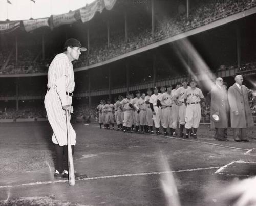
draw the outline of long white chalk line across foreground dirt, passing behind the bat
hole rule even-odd
[[[86,181],[86,180],[95,180],[95,179],[108,179],[108,178],[117,178],[117,177],[146,176],[146,175],[180,173],[180,172],[191,172],[191,171],[199,171],[199,170],[218,169],[220,167],[221,166],[217,166],[217,167],[202,167],[202,168],[184,169],[184,170],[176,170],[176,171],[144,172],[144,173],[134,173],[134,174],[118,174],[118,175],[108,175],[108,176],[99,176],[99,177],[88,177],[88,178],[83,178],[83,179],[77,179],[76,181]],[[4,186],[0,186],[0,188],[12,188],[12,187],[23,187],[23,186],[33,186],[33,185],[47,185],[47,184],[55,184],[55,183],[61,183],[61,182],[68,182],[68,180],[37,181],[37,182],[30,182],[30,183],[20,184],[20,185],[4,185]]]

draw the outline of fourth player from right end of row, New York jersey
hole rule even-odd
[[[167,86],[167,92],[161,94],[160,98],[160,103],[162,105],[162,113],[163,113],[163,131],[164,131],[164,136],[166,136],[167,133],[167,128],[172,126],[172,103],[173,103],[173,97],[171,94],[172,91],[172,85]],[[170,131],[172,134],[172,129]]]

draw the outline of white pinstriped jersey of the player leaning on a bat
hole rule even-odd
[[[72,93],[75,89],[73,64],[64,53],[57,54],[50,64],[47,87],[56,88],[56,81],[62,75],[69,77],[66,78],[66,91]]]

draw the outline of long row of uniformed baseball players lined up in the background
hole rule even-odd
[[[176,136],[179,123],[180,137],[189,138],[190,135],[197,138],[197,128],[201,119],[200,101],[204,96],[201,89],[196,86],[194,79],[190,81],[190,86],[184,79],[176,83],[175,89],[172,89],[171,85],[162,86],[161,93],[155,87],[153,90],[147,89],[147,95],[136,91],[135,98],[130,93],[126,94],[125,99],[119,96],[114,105],[110,100],[107,100],[106,104],[101,101],[97,106],[100,128],[104,124],[105,129],[110,129],[109,125],[112,124],[114,129],[115,115],[118,130],[124,132],[131,132],[132,129],[135,132],[154,133],[154,122],[156,134],[160,134],[159,128],[162,125],[164,135],[168,135],[169,128],[170,135]]]

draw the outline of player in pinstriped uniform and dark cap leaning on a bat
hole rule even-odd
[[[72,61],[79,59],[80,51],[86,51],[86,48],[81,47],[81,43],[77,39],[68,39],[64,44],[64,52],[55,56],[48,71],[45,108],[53,130],[52,141],[56,151],[55,178],[68,176],[68,140],[65,115],[73,113],[71,105],[75,81]],[[71,147],[74,154],[76,133],[70,121],[68,127],[70,128]]]

